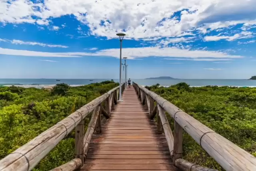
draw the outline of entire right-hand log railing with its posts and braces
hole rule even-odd
[[[183,171],[214,171],[182,159],[182,131],[186,131],[226,171],[256,171],[256,157],[206,127],[166,99],[133,82],[151,119],[157,114],[157,130],[164,130],[173,164]],[[156,105],[154,105],[156,101]],[[174,118],[174,135],[165,112]]]

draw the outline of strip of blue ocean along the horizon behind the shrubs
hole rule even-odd
[[[59,83],[66,83],[70,86],[86,85],[96,82],[102,82],[111,79],[0,79],[0,85],[22,86],[22,87],[52,87]],[[113,79],[114,82],[119,82],[118,79]],[[177,79],[177,80],[145,80],[145,79],[131,79],[139,85],[154,85],[160,84],[162,86],[170,86],[180,82],[185,82],[193,87],[200,87],[206,85],[218,86],[235,86],[235,87],[256,87],[256,80],[196,80],[196,79]]]

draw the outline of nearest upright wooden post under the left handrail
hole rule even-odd
[[[81,159],[84,165],[84,119],[75,128],[75,158]]]

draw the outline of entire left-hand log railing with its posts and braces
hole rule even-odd
[[[122,84],[122,90],[124,88],[125,85]],[[114,109],[114,105],[117,104],[118,93],[120,93],[118,90],[119,86],[82,106],[56,125],[4,157],[0,161],[0,171],[32,170],[74,128],[75,159],[52,169],[52,171],[74,171],[82,167],[92,134],[101,132],[101,114],[107,118],[110,117],[111,109]],[[84,134],[84,119],[92,111],[92,118]]]

